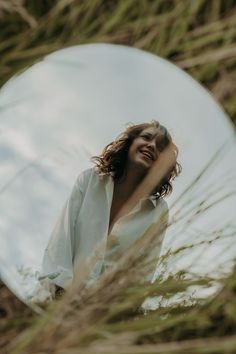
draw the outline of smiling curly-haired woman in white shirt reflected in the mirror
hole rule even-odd
[[[132,125],[94,157],[96,166],[79,175],[52,232],[43,273],[57,288],[67,288],[76,274],[87,281],[99,277],[151,224],[156,257],[168,221],[163,197],[180,173],[177,148],[159,122]],[[92,265],[88,261],[96,258]]]

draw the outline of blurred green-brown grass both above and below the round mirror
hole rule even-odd
[[[50,52],[95,42],[171,60],[236,123],[235,0],[1,0],[0,84]],[[74,289],[40,317],[2,285],[1,353],[236,353],[236,268],[219,281],[217,295],[163,306],[163,297],[213,280],[181,273],[137,286],[135,274],[130,265],[95,289]],[[144,314],[148,295],[162,302]]]

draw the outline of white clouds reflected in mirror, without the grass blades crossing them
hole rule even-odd
[[[26,266],[40,263],[53,220],[76,175],[88,166],[88,155],[99,154],[127,122],[158,119],[173,134],[183,173],[170,204],[232,135],[223,111],[187,74],[154,55],[122,46],[84,45],[50,55],[3,88],[2,106],[16,100],[19,104],[0,111],[0,144],[5,149],[1,179],[7,181],[14,171],[38,160],[0,195],[4,257],[11,266],[12,260]],[[223,182],[228,169],[235,173],[235,142],[232,145],[198,184],[194,200],[207,183]],[[181,203],[188,203],[186,197]],[[205,220],[196,219],[192,227],[211,232],[232,217],[233,203],[235,198],[205,214]],[[189,235],[194,237],[192,231],[175,241],[170,230],[164,246],[186,242]],[[212,248],[210,256],[214,252],[218,248]]]

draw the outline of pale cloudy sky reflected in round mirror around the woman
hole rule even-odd
[[[24,301],[77,176],[126,124],[158,120],[183,172],[166,198],[170,226],[156,277],[230,269],[236,246],[235,140],[212,97],[169,62],[134,48],[82,45],[47,56],[0,92],[1,277]],[[214,240],[214,242],[212,242]],[[183,247],[197,246],[191,250]]]

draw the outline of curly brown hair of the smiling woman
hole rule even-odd
[[[114,141],[105,146],[100,156],[93,156],[92,161],[96,164],[96,171],[99,174],[108,174],[113,177],[114,181],[119,180],[125,173],[127,156],[129,148],[144,129],[149,127],[159,128],[163,139],[161,139],[158,149],[163,151],[165,147],[172,141],[168,130],[158,121],[154,120],[150,123],[142,123],[130,125],[123,133],[121,133]],[[165,197],[172,192],[172,181],[182,170],[181,165],[176,162],[165,176],[160,185],[156,186],[152,192],[152,196],[156,199]]]

